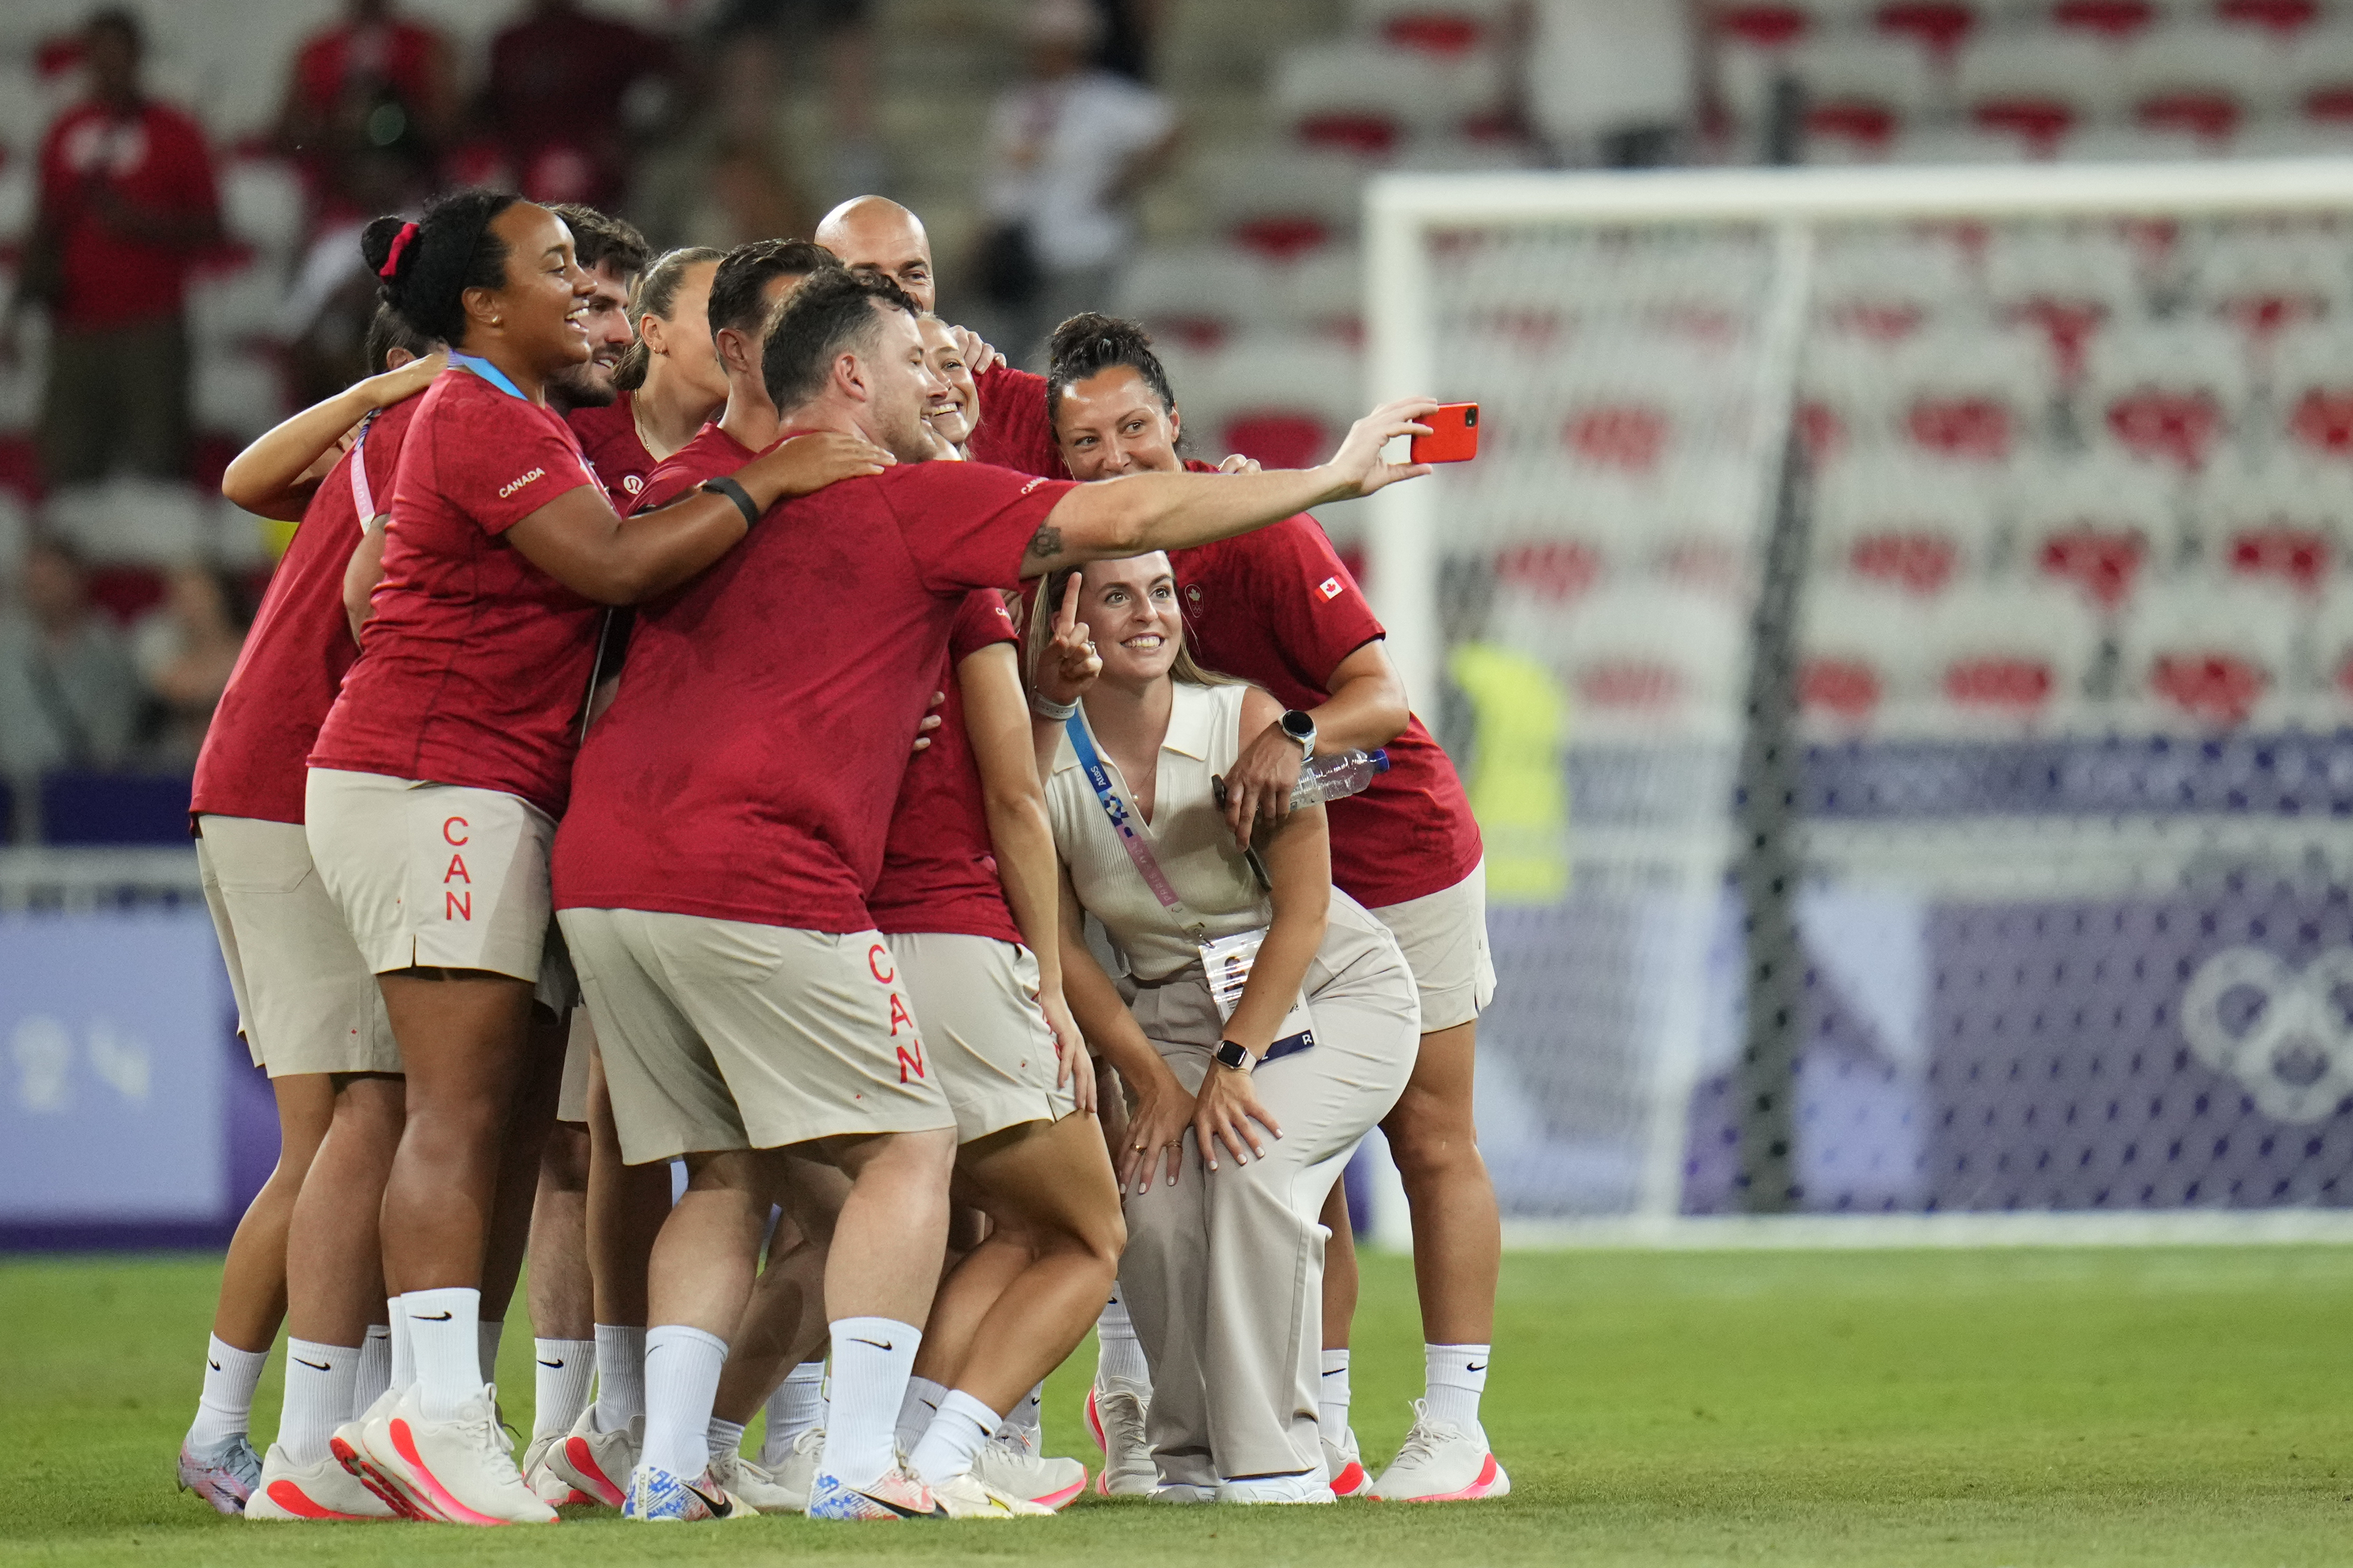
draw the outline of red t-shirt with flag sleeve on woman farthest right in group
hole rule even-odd
[[[1322,527],[1304,513],[1169,551],[1169,563],[1193,657],[1264,685],[1287,709],[1322,704],[1339,662],[1386,636]],[[1388,772],[1327,810],[1332,885],[1367,909],[1452,888],[1482,852],[1454,763],[1419,718],[1388,742]]]

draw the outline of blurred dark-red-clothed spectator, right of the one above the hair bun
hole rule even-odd
[[[591,16],[579,0],[534,0],[489,45],[482,127],[534,202],[612,207],[628,184],[631,132],[671,115],[675,64],[664,38]]]

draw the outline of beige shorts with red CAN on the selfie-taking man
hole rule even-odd
[[[560,918],[631,1165],[955,1125],[880,932]]]

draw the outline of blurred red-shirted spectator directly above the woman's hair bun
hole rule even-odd
[[[456,127],[456,68],[442,35],[395,16],[391,0],[346,9],[294,54],[278,115],[278,141],[301,162],[325,217],[348,217],[355,162],[384,151],[431,160]]]

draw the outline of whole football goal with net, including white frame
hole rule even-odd
[[[2353,1203],[2353,162],[1391,177],[1506,1217]]]

